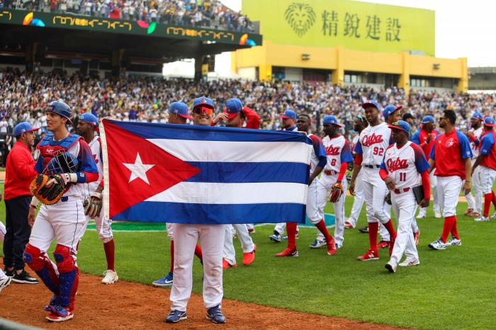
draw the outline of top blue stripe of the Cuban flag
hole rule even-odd
[[[207,140],[237,142],[305,142],[312,141],[298,132],[282,130],[252,130],[249,128],[213,127],[200,125],[177,125],[135,123],[107,120],[144,139]]]

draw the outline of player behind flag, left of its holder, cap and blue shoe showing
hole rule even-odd
[[[173,102],[169,107],[169,124],[186,125],[187,120],[193,120],[191,115],[188,115],[188,106],[183,102]],[[167,236],[171,240],[171,267],[169,273],[159,280],[154,280],[152,285],[155,287],[166,287],[172,285],[174,281],[174,224],[167,223]],[[196,243],[195,255],[202,261],[201,247]]]

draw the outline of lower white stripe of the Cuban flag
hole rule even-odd
[[[306,204],[308,186],[301,183],[208,183],[181,182],[147,202],[198,204]]]

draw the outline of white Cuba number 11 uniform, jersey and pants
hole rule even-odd
[[[398,222],[398,232],[390,262],[398,266],[403,253],[408,261],[416,261],[419,258],[411,229],[417,209],[412,188],[419,185],[420,173],[429,169],[429,163],[422,149],[409,141],[401,148],[398,148],[397,144],[391,145],[385,151],[381,169],[395,182],[395,189],[391,191],[391,202]],[[430,190],[429,185],[427,189]]]

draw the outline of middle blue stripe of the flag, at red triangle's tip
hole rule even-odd
[[[201,172],[188,182],[248,183],[290,182],[308,183],[308,165],[301,163],[232,163],[188,161]]]

